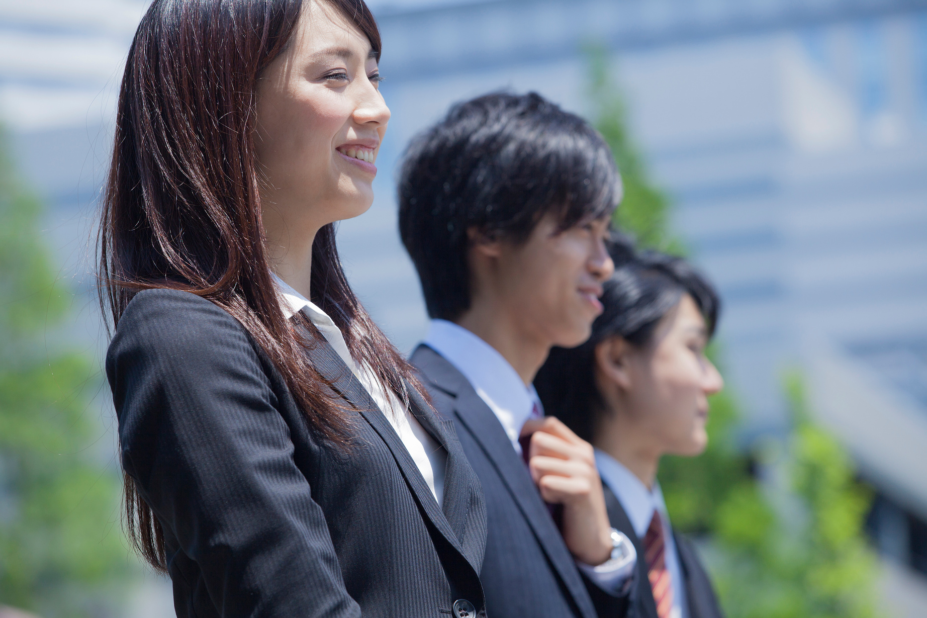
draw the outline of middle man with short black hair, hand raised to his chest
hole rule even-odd
[[[620,196],[602,137],[534,93],[458,104],[406,154],[400,234],[432,318],[412,361],[483,485],[490,616],[627,610],[636,556],[592,447],[531,385],[602,313]]]

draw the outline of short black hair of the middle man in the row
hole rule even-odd
[[[547,213],[565,230],[620,199],[611,150],[577,115],[535,93],[454,105],[413,139],[400,174],[400,236],[428,315],[454,320],[470,308],[468,228],[520,243]]]

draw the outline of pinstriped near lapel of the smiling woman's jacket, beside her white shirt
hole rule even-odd
[[[429,489],[427,483],[425,483],[425,478],[422,476],[421,471],[418,470],[418,466],[415,465],[412,456],[409,455],[409,450],[402,444],[396,430],[389,424],[389,421],[383,415],[383,412],[380,411],[379,407],[376,406],[370,394],[363,388],[361,382],[354,377],[354,374],[351,373],[348,366],[344,364],[344,361],[336,354],[331,345],[328,344],[328,341],[318,341],[314,348],[306,350],[306,354],[309,356],[313,367],[322,374],[325,380],[329,381],[332,388],[337,393],[344,397],[351,406],[354,406],[364,420],[370,424],[376,434],[380,436],[380,439],[387,444],[387,448],[396,460],[396,464],[399,466],[403,478],[412,490],[419,508],[438,529],[438,532],[451,543],[451,546],[457,549],[462,555],[466,556],[463,547],[461,547],[458,535],[451,529],[451,524],[438,507],[438,502],[435,501],[434,494],[431,493],[431,489]],[[427,416],[430,415],[419,411],[416,418],[422,419]],[[440,432],[436,435],[434,424],[429,424],[431,427],[426,428],[426,431],[429,431],[440,444],[447,444],[446,436]],[[448,457],[448,467],[451,468],[451,457]],[[447,479],[445,479],[445,483],[447,483]],[[445,486],[445,492],[446,491],[447,487]],[[467,557],[467,560],[469,561],[470,558]],[[476,573],[479,573],[479,566],[472,566],[474,566]]]

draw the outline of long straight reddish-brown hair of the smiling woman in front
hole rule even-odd
[[[380,34],[363,0],[325,0]],[[260,72],[295,32],[301,0],[155,0],[135,32],[122,77],[103,197],[98,269],[104,313],[119,322],[140,290],[185,290],[233,315],[286,380],[317,435],[349,444],[343,408],[326,394],[296,325],[281,310],[264,251],[254,132]],[[350,289],[335,227],[312,245],[311,297],[351,355],[408,402],[407,361]],[[317,331],[315,331],[317,332]],[[166,572],[158,519],[124,474],[133,546]]]

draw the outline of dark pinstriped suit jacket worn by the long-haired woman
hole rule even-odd
[[[484,606],[486,513],[453,427],[414,389],[448,453],[443,512],[387,418],[326,341],[311,363],[349,404],[353,444],[309,430],[231,315],[146,290],[107,354],[121,458],[164,529],[181,617],[451,615]]]

